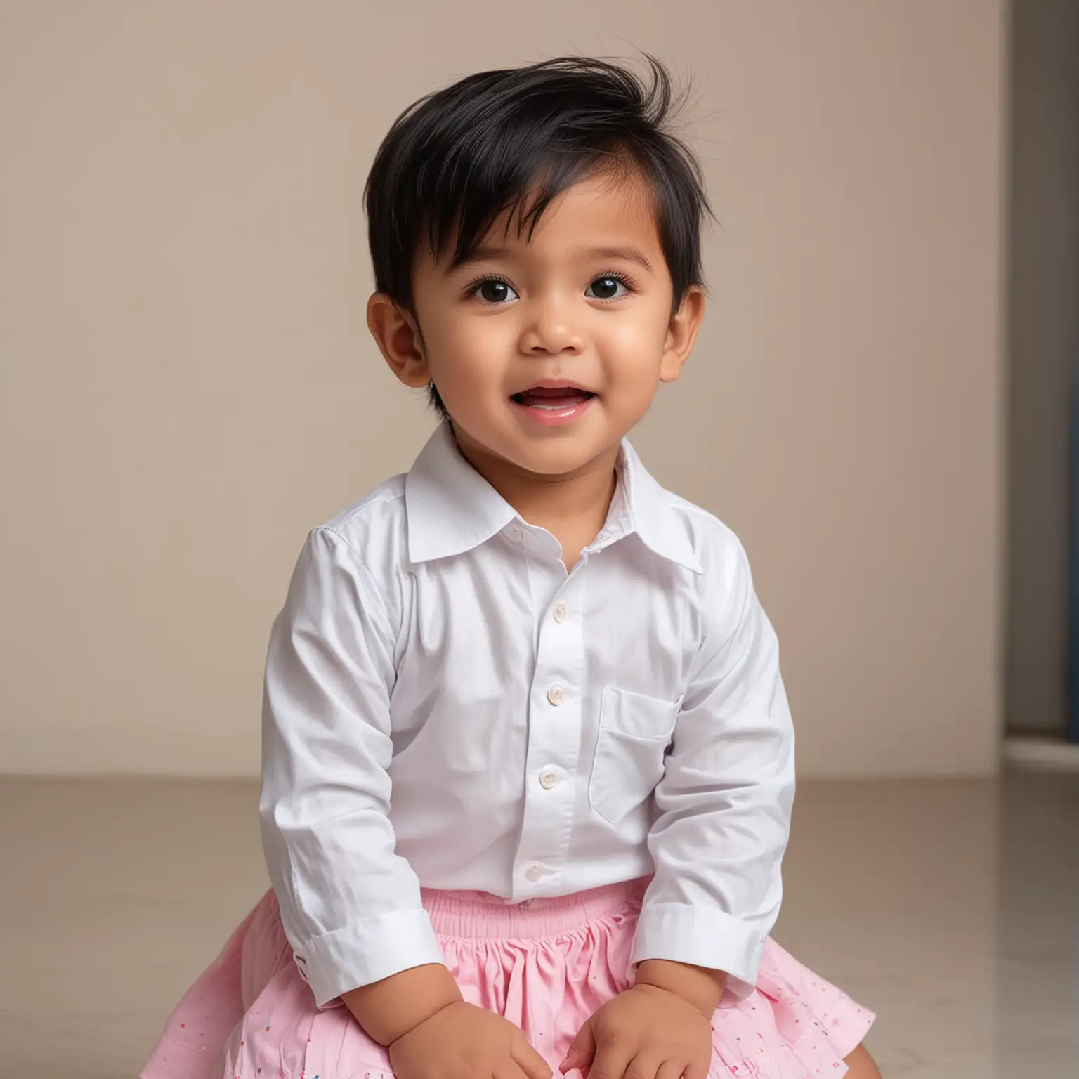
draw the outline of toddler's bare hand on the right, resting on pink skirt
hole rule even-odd
[[[705,1015],[668,989],[639,983],[585,1023],[559,1070],[587,1068],[588,1079],[706,1079],[711,1063]]]

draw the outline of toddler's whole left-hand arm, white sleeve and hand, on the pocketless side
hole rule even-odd
[[[267,660],[260,815],[296,962],[401,1079],[549,1079],[513,1023],[466,1003],[395,850],[390,695],[395,619],[337,533],[308,538]]]

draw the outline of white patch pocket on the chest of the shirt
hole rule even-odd
[[[588,802],[609,823],[646,802],[663,779],[680,707],[614,686],[603,691]]]

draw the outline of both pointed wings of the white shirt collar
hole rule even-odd
[[[647,473],[627,439],[618,453],[618,476],[604,527],[610,540],[636,532],[656,555],[701,573],[672,496]],[[412,562],[462,555],[519,520],[517,510],[464,459],[445,421],[406,477],[405,508]]]

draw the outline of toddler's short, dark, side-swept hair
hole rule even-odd
[[[664,65],[651,79],[591,57],[483,71],[422,97],[394,122],[364,189],[378,291],[414,314],[421,244],[465,261],[507,210],[531,236],[549,204],[601,170],[636,172],[652,190],[674,310],[704,284],[710,215],[700,166],[670,131],[684,95]],[[432,407],[448,415],[434,383]]]

